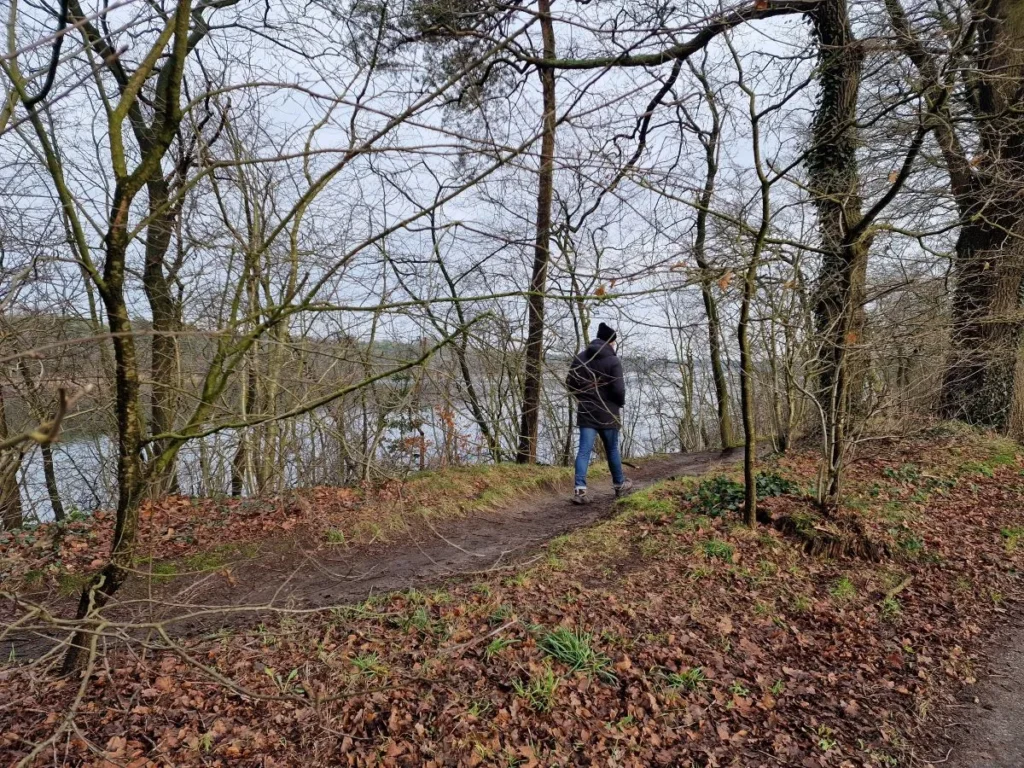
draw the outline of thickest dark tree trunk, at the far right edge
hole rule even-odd
[[[932,108],[961,217],[953,261],[949,355],[939,413],[1024,437],[1020,294],[1024,280],[1024,6],[972,0],[959,62],[944,75],[910,27],[899,0],[886,0],[896,39],[916,68]],[[965,66],[966,65],[966,66]],[[959,78],[959,81],[956,78]],[[980,152],[969,158],[947,105],[963,96]]]

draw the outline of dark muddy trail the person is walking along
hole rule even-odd
[[[629,476],[639,489],[741,458],[742,450],[663,456],[644,460]],[[590,489],[593,500],[586,506],[569,502],[569,482],[493,511],[434,524],[424,519],[415,532],[388,543],[340,548],[301,535],[266,542],[253,557],[215,572],[166,583],[134,579],[103,618],[116,634],[138,636],[141,631],[132,627],[160,625],[170,636],[195,637],[251,625],[271,612],[351,605],[381,593],[513,569],[539,558],[538,550],[552,539],[613,514],[610,481],[592,482]],[[69,598],[49,608],[54,615],[71,617],[75,602]],[[65,639],[17,633],[8,635],[3,651],[28,662]]]

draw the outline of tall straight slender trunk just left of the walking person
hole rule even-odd
[[[555,57],[555,31],[551,19],[551,0],[539,0],[538,13],[544,39],[544,57]],[[526,359],[523,368],[522,418],[519,426],[519,464],[537,462],[537,439],[541,415],[542,377],[544,375],[544,292],[548,287],[548,261],[551,256],[551,202],[555,176],[555,71],[540,67],[544,104],[541,136],[541,167],[537,191],[537,240],[534,246],[534,273],[529,282]]]

